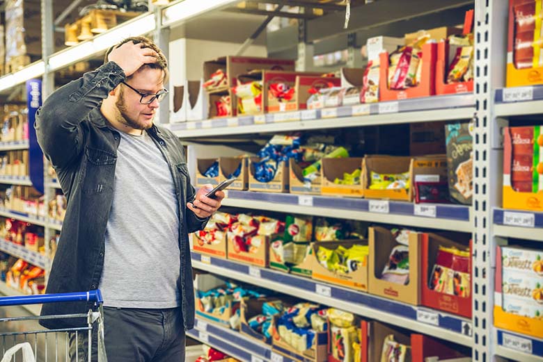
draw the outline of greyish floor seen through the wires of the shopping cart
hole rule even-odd
[[[3,318],[31,317],[31,313],[22,306],[6,306],[0,308],[0,320]],[[43,331],[44,328],[37,320],[0,322],[0,356],[3,356],[6,349],[17,343],[29,342],[36,355],[36,362],[66,361],[66,334],[24,334],[17,336],[3,336],[10,333],[23,333],[29,331]],[[58,345],[58,350],[56,349]],[[37,346],[37,347],[36,347]],[[22,354],[16,355],[15,361],[22,361]]]

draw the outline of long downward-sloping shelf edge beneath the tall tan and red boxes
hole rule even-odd
[[[430,336],[440,336],[461,345],[471,346],[471,320],[402,302],[349,290],[267,268],[236,263],[226,259],[191,253],[196,269],[281,291],[296,297],[350,311],[382,322],[401,325]],[[426,322],[421,322],[424,320]]]

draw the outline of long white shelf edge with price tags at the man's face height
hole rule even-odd
[[[301,129],[470,120],[475,111],[473,104],[472,94],[450,94],[377,104],[358,104],[338,108],[268,113],[260,116],[246,115],[171,123],[169,127],[180,138],[196,138]]]

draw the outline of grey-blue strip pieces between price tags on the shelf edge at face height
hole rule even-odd
[[[393,102],[398,103],[398,112],[389,112],[388,110],[382,110],[382,105],[391,104]],[[372,104],[366,104],[366,106],[369,107],[368,113],[366,115],[379,115],[379,114],[390,114],[393,115],[395,113],[404,113],[404,112],[416,112],[416,111],[424,111],[424,110],[446,110],[450,108],[468,108],[475,106],[475,98],[473,97],[473,94],[464,93],[464,94],[446,94],[446,95],[439,95],[439,96],[432,96],[432,97],[422,97],[422,98],[416,98],[416,99],[402,99],[401,101],[393,101],[393,102],[380,102],[380,103],[372,103]],[[381,106],[379,106],[381,105]],[[353,114],[353,107],[356,106],[363,106],[363,105],[354,105],[354,106],[340,106],[337,108],[330,108],[330,109],[336,109],[337,110],[337,117],[354,117],[356,115]],[[329,109],[329,108],[325,108]],[[304,121],[310,121],[310,120],[319,120],[322,118],[322,114],[320,110],[300,110],[297,111],[300,113],[297,120],[304,120]],[[292,112],[286,112],[286,113],[292,113]],[[294,112],[295,113],[295,112]],[[308,115],[311,116],[308,116]],[[276,120],[276,115],[281,116],[281,113],[267,113],[265,115],[265,123],[278,123],[278,122],[284,122],[284,121],[278,121]],[[230,117],[230,118],[219,118],[219,119],[212,119],[212,120],[203,120],[203,121],[193,121],[193,122],[180,122],[180,123],[172,123],[171,124],[171,131],[183,131],[185,129],[189,129],[189,124],[191,124],[191,128],[194,129],[203,129],[203,122],[208,121],[208,125],[210,128],[223,128],[228,127],[228,120],[234,120],[234,123],[237,123],[237,126],[251,126],[253,124],[258,124],[255,122],[256,117],[255,116],[240,116],[240,117]],[[209,122],[210,121],[210,122]]]

